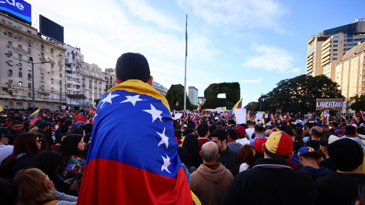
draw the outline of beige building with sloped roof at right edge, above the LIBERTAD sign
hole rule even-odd
[[[335,80],[346,100],[365,94],[365,41],[348,50],[337,63]]]

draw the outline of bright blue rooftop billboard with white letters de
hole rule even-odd
[[[31,5],[23,0],[0,0],[0,12],[31,25]]]

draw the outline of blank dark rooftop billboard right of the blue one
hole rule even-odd
[[[39,32],[55,41],[64,44],[64,27],[39,15]]]

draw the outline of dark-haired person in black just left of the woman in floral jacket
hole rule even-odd
[[[59,152],[48,150],[39,152],[34,158],[33,167],[42,170],[43,173],[48,175],[58,192],[77,197],[77,181],[70,187],[70,181],[72,181],[72,179],[62,181],[57,177],[57,174],[62,172],[63,168],[63,158]]]

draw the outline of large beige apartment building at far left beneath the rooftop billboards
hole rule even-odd
[[[65,51],[42,38],[36,28],[0,13],[0,105],[3,109],[32,109],[32,78],[35,108],[56,110],[66,102]],[[34,76],[32,76],[32,63]],[[45,63],[41,63],[45,62]],[[61,95],[60,95],[61,91]]]

